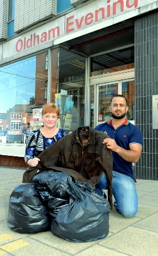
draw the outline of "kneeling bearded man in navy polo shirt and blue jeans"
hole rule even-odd
[[[125,119],[127,111],[127,99],[120,94],[113,96],[110,103],[112,119],[95,129],[110,136],[104,139],[103,144],[112,150],[113,155],[114,206],[121,215],[132,218],[137,213],[136,180],[132,163],[136,163],[140,158],[143,135],[138,127]],[[106,175],[102,175],[98,186],[103,190],[107,189]]]

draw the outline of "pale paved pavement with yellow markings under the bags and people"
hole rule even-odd
[[[25,168],[0,166],[0,256],[157,256],[158,181],[137,180],[139,211],[126,219],[110,212],[110,231],[96,242],[75,243],[55,237],[50,231],[20,234],[7,225],[9,198],[22,184]]]

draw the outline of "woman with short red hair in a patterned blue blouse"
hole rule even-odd
[[[59,107],[47,103],[42,108],[43,127],[32,131],[27,139],[25,162],[31,167],[37,166],[40,159],[37,157],[44,149],[55,141],[66,136],[66,131],[55,127],[58,123]]]

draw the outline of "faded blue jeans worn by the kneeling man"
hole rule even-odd
[[[102,175],[97,185],[102,190],[107,190],[108,185],[105,174]],[[137,213],[138,201],[135,180],[127,175],[112,171],[112,191],[116,210],[125,218],[132,218]],[[101,195],[102,191],[100,190],[98,194]]]

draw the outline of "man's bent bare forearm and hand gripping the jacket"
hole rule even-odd
[[[129,150],[119,147],[114,139],[104,139],[103,144],[106,144],[107,148],[118,153],[125,161],[136,163],[141,154],[142,147],[139,144],[130,144]]]

